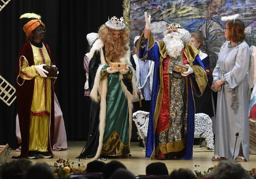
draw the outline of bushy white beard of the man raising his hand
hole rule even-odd
[[[183,41],[180,39],[180,34],[172,32],[164,36],[163,41],[166,46],[167,54],[172,57],[179,56],[184,48]]]

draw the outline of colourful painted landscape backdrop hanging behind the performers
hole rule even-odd
[[[144,12],[151,15],[151,31],[156,40],[163,37],[166,23],[180,22],[188,31],[201,31],[204,36],[205,51],[213,70],[221,45],[225,41],[225,22],[220,18],[239,14],[246,25],[246,42],[256,45],[256,0],[124,0],[124,16],[129,14],[131,46],[135,36],[145,27]]]

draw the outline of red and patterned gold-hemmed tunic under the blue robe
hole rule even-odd
[[[175,59],[167,56],[163,60],[164,97],[157,125],[158,146],[162,153],[178,152],[185,148],[188,127],[187,80],[180,73],[172,72],[176,62],[184,63],[181,56]]]

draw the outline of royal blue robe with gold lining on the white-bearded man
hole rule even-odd
[[[143,33],[141,34],[141,37]],[[141,42],[141,37],[139,39],[139,44]],[[181,159],[192,159],[193,157],[193,140],[194,140],[194,100],[193,100],[193,89],[197,96],[201,96],[204,92],[204,88],[207,85],[207,75],[205,72],[204,64],[201,61],[198,53],[199,51],[191,46],[190,44],[184,44],[185,51],[184,55],[187,57],[190,66],[193,68],[194,73],[188,75],[188,129],[187,129],[187,138],[185,146],[185,155]],[[137,47],[137,54],[140,60],[150,59],[155,61],[154,66],[154,77],[153,77],[153,86],[152,86],[152,98],[151,98],[151,107],[149,115],[149,124],[148,132],[146,139],[146,157],[153,159],[157,157],[156,148],[157,148],[157,122],[159,118],[159,112],[162,104],[162,91],[163,86],[162,80],[162,61],[167,56],[167,51],[163,41],[154,41],[152,34],[150,33],[148,40],[146,42],[145,48],[141,46]],[[193,64],[193,66],[192,66]]]

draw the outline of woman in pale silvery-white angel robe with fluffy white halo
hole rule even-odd
[[[248,77],[250,48],[243,41],[244,22],[236,15],[227,21],[219,59],[213,71],[212,89],[218,92],[213,161],[249,161]]]

